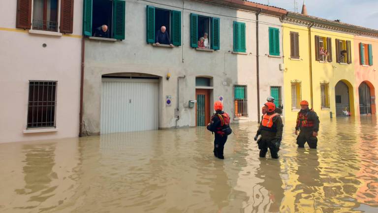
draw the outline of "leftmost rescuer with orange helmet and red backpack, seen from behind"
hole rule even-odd
[[[220,101],[214,103],[215,113],[211,116],[211,123],[207,125],[210,132],[215,133],[214,155],[219,159],[224,159],[223,148],[227,141],[227,136],[232,133],[229,126],[230,116],[223,111],[223,104]]]

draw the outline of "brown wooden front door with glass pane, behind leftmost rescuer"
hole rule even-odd
[[[195,124],[196,126],[206,126],[210,123],[210,90],[196,89],[195,98]]]

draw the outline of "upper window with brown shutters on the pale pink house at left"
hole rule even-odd
[[[16,27],[71,34],[73,0],[17,0]]]

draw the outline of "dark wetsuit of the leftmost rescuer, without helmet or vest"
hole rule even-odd
[[[227,141],[227,134],[222,134],[220,128],[222,128],[221,119],[218,114],[222,115],[223,111],[217,111],[212,117],[211,117],[211,123],[206,127],[209,131],[213,132],[215,134],[214,139],[214,155],[220,159],[224,159],[223,156],[223,149],[224,144]]]

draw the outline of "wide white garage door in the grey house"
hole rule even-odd
[[[158,129],[158,79],[102,78],[101,134]]]

